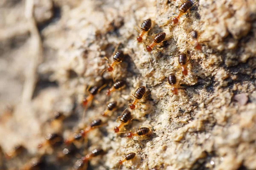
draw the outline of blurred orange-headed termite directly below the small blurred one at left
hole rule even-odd
[[[57,133],[48,133],[46,136],[46,141],[44,143],[38,144],[38,148],[45,146],[60,146],[63,143],[63,138]]]

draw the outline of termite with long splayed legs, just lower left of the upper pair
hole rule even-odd
[[[119,44],[120,44],[120,43],[119,43]],[[114,51],[113,54],[112,54],[112,56],[113,56],[113,62],[110,62],[107,57],[104,57],[104,58],[108,61],[109,65],[108,65],[108,67],[107,67],[105,70],[103,70],[102,73],[101,73],[101,74],[103,74],[106,70],[108,70],[108,72],[111,72],[111,75],[112,75],[112,78],[113,78],[113,82],[115,82],[115,79],[114,79],[113,73],[112,73],[112,71],[114,70],[114,66],[115,66],[116,64],[119,64],[120,62],[122,62],[122,60],[125,58],[125,55],[123,54],[122,51],[117,51],[117,48],[118,48],[119,44],[116,46],[115,51]],[[116,52],[116,51],[117,51],[117,52]]]

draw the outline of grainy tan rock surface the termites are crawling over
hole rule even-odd
[[[163,26],[178,13],[180,0],[2,0],[0,169],[20,169],[41,155],[45,169],[71,169],[81,155],[101,147],[105,155],[93,158],[89,168],[118,169],[117,160],[135,152],[120,169],[255,170],[256,3],[192,2],[177,26]],[[168,39],[154,53],[135,41],[138,25],[148,18],[154,21],[149,35],[166,32]],[[108,66],[104,57],[112,62],[119,43],[125,59],[113,77],[125,80],[126,87],[107,97],[112,76],[102,74]],[[187,76],[178,64],[181,53],[190,58]],[[171,73],[180,84],[178,95],[166,83]],[[85,89],[104,84],[83,122]],[[113,128],[141,85],[149,95],[132,112],[126,131],[142,125],[152,134],[130,141]],[[110,101],[117,101],[118,109],[104,118],[100,113]],[[63,123],[48,121],[55,111],[64,113]],[[66,139],[99,118],[106,124],[77,143],[72,157],[56,161],[64,146],[38,150],[47,133]],[[19,144],[25,149],[8,158]]]

